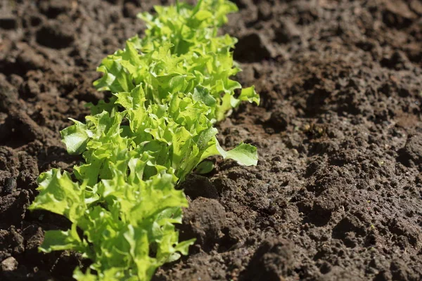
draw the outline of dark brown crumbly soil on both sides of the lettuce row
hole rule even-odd
[[[83,120],[96,66],[168,1],[0,4],[0,279],[72,280],[80,254],[37,251],[68,221],[27,211],[39,172],[69,169],[60,129]],[[182,187],[188,257],[154,280],[422,280],[422,3],[237,0],[224,32],[260,107],[219,141],[257,166],[215,159]]]

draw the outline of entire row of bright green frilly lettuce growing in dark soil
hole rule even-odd
[[[179,242],[174,229],[188,206],[174,186],[211,155],[257,164],[255,147],[225,151],[214,127],[241,101],[260,100],[253,87],[235,93],[241,85],[229,77],[240,70],[231,53],[236,39],[217,34],[236,6],[200,0],[155,11],[139,15],[148,27],[143,38],[129,39],[98,67],[103,76],[94,86],[112,98],[61,131],[68,152],[84,162],[72,173],[41,174],[30,206],[72,223],[47,231],[40,249],[91,259],[86,272],[75,269],[77,280],[150,280],[193,244]]]

